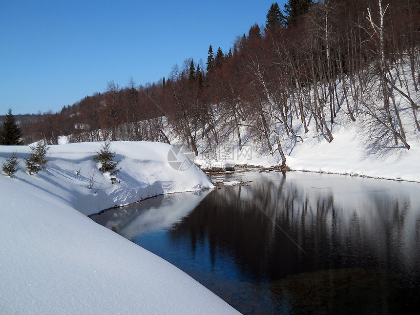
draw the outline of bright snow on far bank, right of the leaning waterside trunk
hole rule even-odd
[[[420,181],[420,138],[414,128],[407,132],[409,150],[393,148],[383,154],[369,154],[357,123],[335,127],[331,143],[311,132],[302,135],[304,142],[285,152],[287,165],[294,170]]]

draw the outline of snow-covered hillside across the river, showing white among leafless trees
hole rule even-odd
[[[408,64],[408,63],[407,63]],[[394,65],[397,68],[397,65]],[[406,65],[404,67],[405,73],[411,73]],[[396,70],[391,70],[392,79],[399,82],[399,76]],[[377,77],[372,76],[372,82],[365,87],[364,94],[358,96],[358,104],[371,104],[377,108],[381,107],[381,100],[375,98],[378,94],[378,86],[375,80]],[[270,141],[273,147],[273,154],[267,144],[260,138],[255,136],[254,129],[244,125],[252,125],[252,122],[244,122],[242,126],[238,127],[241,135],[242,149],[239,149],[238,137],[234,129],[226,130],[231,126],[226,126],[226,118],[216,112],[218,117],[216,129],[220,135],[218,145],[210,144],[206,138],[197,140],[199,156],[196,162],[202,165],[203,168],[207,167],[224,167],[226,164],[248,164],[248,165],[261,165],[264,167],[277,166],[282,163],[280,154],[277,151],[276,136],[277,133],[281,142],[282,149],[286,156],[286,165],[293,170],[305,171],[321,171],[332,172],[338,174],[351,174],[361,176],[371,176],[386,179],[402,179],[409,181],[420,181],[420,129],[417,126],[419,108],[413,109],[411,103],[407,100],[407,95],[416,102],[420,103],[420,91],[415,88],[411,83],[407,86],[399,86],[400,92],[390,87],[390,99],[395,103],[395,108],[391,109],[395,121],[400,120],[401,133],[403,132],[406,142],[410,145],[407,149],[399,142],[397,145],[392,139],[392,134],[389,129],[383,127],[380,115],[375,112],[367,114],[367,106],[363,110],[355,111],[356,101],[352,98],[349,100],[349,107],[345,105],[344,90],[348,90],[351,82],[336,80],[336,91],[338,93],[337,103],[340,107],[335,107],[336,117],[334,123],[329,119],[326,125],[332,133],[334,139],[331,142],[322,136],[320,131],[323,127],[317,125],[313,112],[311,112],[311,105],[305,99],[303,100],[303,112],[306,117],[306,124],[308,131],[305,133],[305,128],[301,122],[300,116],[297,116],[297,95],[291,95],[289,98],[289,105],[295,110],[290,110],[287,116],[289,120],[289,128],[293,126],[293,134],[287,135],[285,125],[280,124],[278,121],[271,121],[271,134]],[[357,84],[360,84],[357,82]],[[376,85],[375,85],[376,84]],[[318,87],[319,93],[322,92],[322,86]],[[314,99],[314,88],[307,91],[307,98]],[[373,95],[373,96],[372,96]],[[391,101],[390,101],[391,102]],[[329,106],[327,100],[323,104],[323,111],[325,117],[328,117]],[[266,112],[270,112],[268,102],[262,105]],[[280,105],[273,105],[274,116],[281,117],[278,109]],[[350,114],[352,111],[352,114]],[[397,113],[399,117],[397,119]],[[378,117],[375,115],[378,114]],[[350,117],[355,116],[353,121]],[[372,117],[375,116],[375,117]],[[269,119],[269,115],[266,117]],[[290,123],[290,122],[293,122]],[[394,122],[394,124],[397,124]],[[386,125],[386,123],[384,123]],[[402,126],[404,127],[402,131]],[[389,126],[388,126],[389,127]],[[225,129],[224,129],[225,128]],[[382,130],[382,129],[383,130]],[[397,127],[396,127],[397,128]],[[325,133],[325,130],[323,131]],[[168,134],[173,134],[170,130]],[[201,131],[199,132],[199,134]],[[385,141],[384,139],[388,139]],[[176,138],[172,141],[177,143]],[[376,142],[376,144],[375,144]]]

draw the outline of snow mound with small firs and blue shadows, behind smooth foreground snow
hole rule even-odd
[[[99,163],[93,159],[100,149],[99,142],[51,146],[47,168],[32,176],[25,171],[22,160],[29,157],[27,146],[0,146],[0,162],[9,158],[12,150],[17,151],[21,169],[14,180],[45,190],[51,198],[58,198],[86,215],[153,195],[212,187],[195,165],[183,171],[170,167],[171,147],[156,142],[111,143],[114,160],[120,161],[117,168],[121,168],[116,175],[117,183],[112,185],[109,174],[101,173]]]

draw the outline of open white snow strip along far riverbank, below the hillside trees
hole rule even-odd
[[[340,112],[341,113],[341,112]],[[312,124],[308,133],[300,133],[303,141],[292,136],[283,139],[283,150],[286,164],[298,171],[326,172],[336,174],[360,175],[385,179],[400,179],[420,182],[420,133],[411,126],[406,130],[410,149],[390,147],[372,154],[365,146],[366,138],[357,123],[349,121],[345,115],[338,114],[334,125],[334,140],[329,143],[317,135]],[[405,117],[406,118],[406,117]],[[225,165],[254,165],[272,167],[281,165],[278,152],[271,155],[267,148],[252,142],[243,130],[242,150],[239,150],[235,139],[221,143],[214,148],[211,158],[200,154],[195,162],[202,168]],[[206,144],[199,142],[200,149]]]

